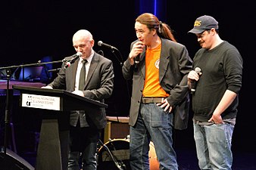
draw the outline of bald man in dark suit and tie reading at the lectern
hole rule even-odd
[[[113,63],[92,49],[94,43],[92,34],[88,30],[78,30],[73,35],[73,48],[77,54],[81,54],[81,57],[73,64],[63,64],[58,76],[45,88],[65,89],[100,102],[110,97],[114,88]],[[66,57],[65,60],[71,58]],[[85,66],[83,60],[86,61]],[[80,72],[83,71],[84,78],[81,85]],[[68,170],[80,169],[80,153],[82,153],[82,168],[96,169],[97,143],[101,129],[105,128],[106,124],[104,108],[93,110],[93,113],[89,110],[74,110],[70,113]]]

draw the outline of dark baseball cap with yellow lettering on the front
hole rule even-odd
[[[207,29],[218,29],[218,22],[214,19],[214,17],[204,15],[201,17],[198,17],[195,20],[194,28],[191,29],[189,32],[194,34],[200,34],[201,32],[204,32],[204,30]]]

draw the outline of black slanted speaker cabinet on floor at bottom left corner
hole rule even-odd
[[[34,170],[32,165],[25,159],[18,156],[11,150],[6,149],[0,152],[0,169],[1,170]]]

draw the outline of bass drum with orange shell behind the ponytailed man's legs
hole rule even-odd
[[[152,142],[149,144],[149,165],[150,170],[158,170],[159,162],[155,153],[155,146]],[[130,140],[114,139],[105,143],[98,149],[98,168],[97,170],[130,170]],[[111,154],[110,154],[111,153]],[[115,161],[114,161],[115,160]],[[122,168],[117,168],[117,166]]]

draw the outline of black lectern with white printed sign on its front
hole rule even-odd
[[[20,91],[20,107],[43,110],[36,170],[67,170],[69,112],[98,110],[107,104],[69,91],[13,85]]]

